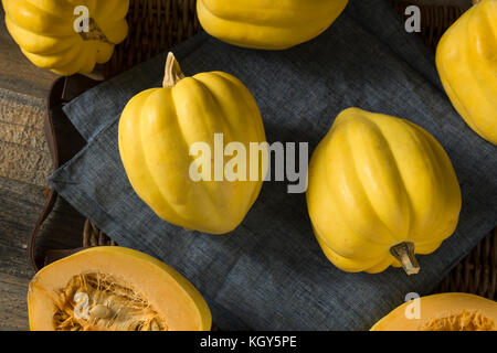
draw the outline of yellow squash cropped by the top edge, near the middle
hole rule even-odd
[[[285,50],[310,41],[340,15],[348,0],[197,0],[203,29],[230,44]]]

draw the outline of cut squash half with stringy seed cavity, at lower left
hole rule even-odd
[[[211,312],[179,272],[144,253],[102,246],[41,269],[28,292],[33,331],[209,331]]]

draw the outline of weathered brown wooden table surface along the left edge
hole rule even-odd
[[[52,161],[43,133],[45,97],[57,76],[33,66],[13,42],[0,6],[0,330],[28,330],[28,284],[34,271],[28,236],[45,202]],[[57,222],[64,217],[67,222]],[[83,218],[59,201],[41,245],[75,247]]]

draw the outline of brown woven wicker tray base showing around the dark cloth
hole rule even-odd
[[[410,4],[391,0],[403,14]],[[425,44],[435,51],[440,38],[463,13],[457,7],[420,7]],[[181,43],[201,30],[195,14],[195,0],[131,0],[128,13],[130,33],[116,47],[103,68],[109,78],[169,47]],[[89,221],[84,227],[83,246],[115,245]],[[461,291],[495,299],[497,286],[497,229],[489,234],[438,286],[436,292]]]

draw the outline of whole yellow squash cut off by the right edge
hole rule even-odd
[[[436,66],[455,109],[497,145],[497,0],[476,3],[445,32]]]

